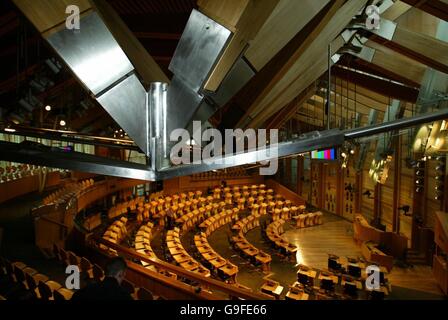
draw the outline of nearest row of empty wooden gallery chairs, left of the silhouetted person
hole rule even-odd
[[[27,266],[25,263],[10,262],[0,258],[0,273],[26,290],[32,298],[42,300],[70,300],[73,291],[63,288],[61,284],[37,270]]]

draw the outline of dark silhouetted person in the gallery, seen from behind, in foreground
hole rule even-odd
[[[106,277],[99,283],[89,284],[78,290],[73,301],[82,300],[133,300],[120,285],[126,274],[126,261],[121,257],[110,259],[106,265]]]

